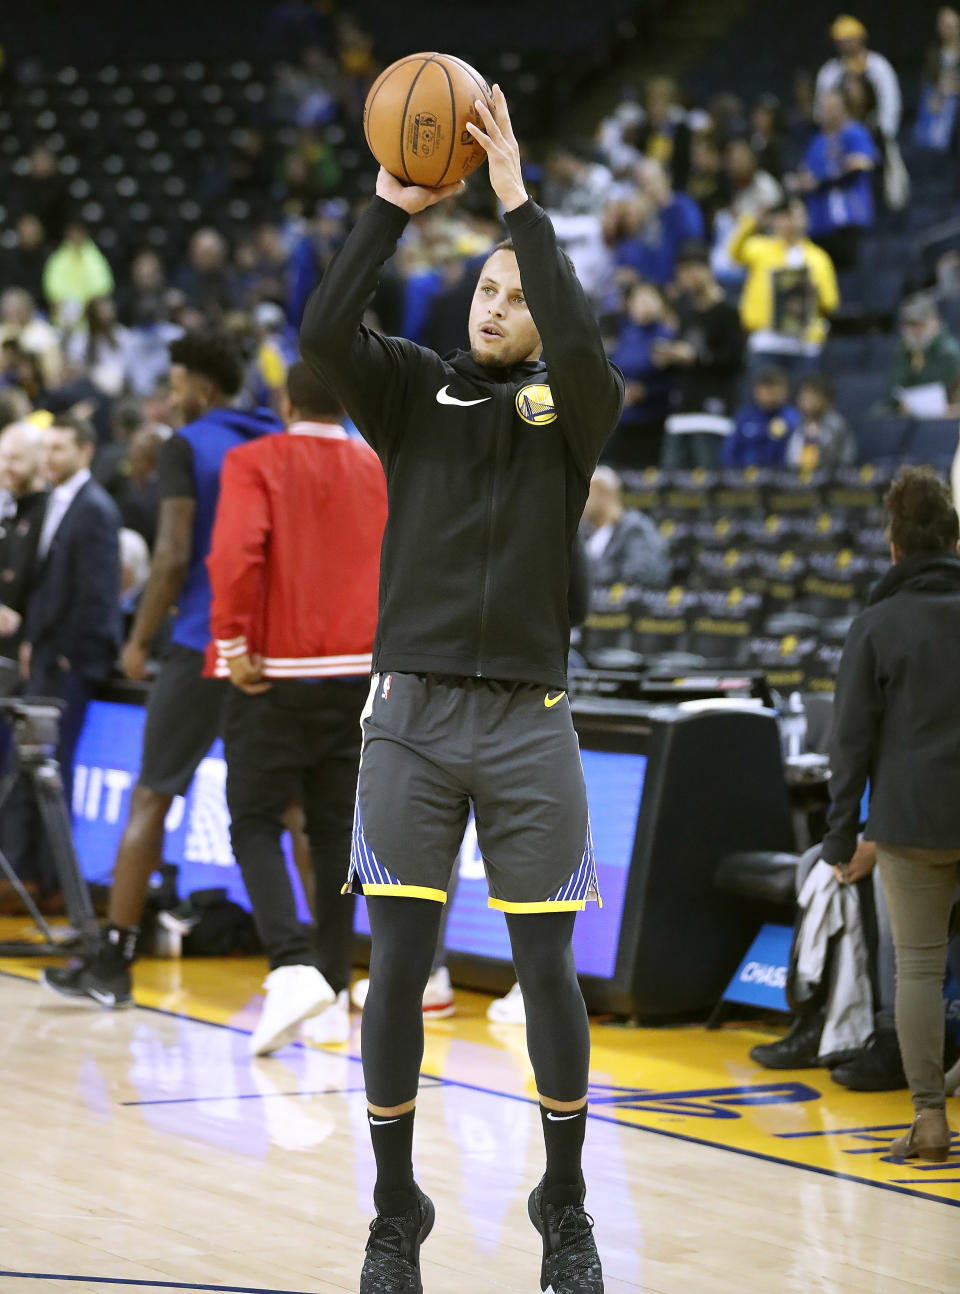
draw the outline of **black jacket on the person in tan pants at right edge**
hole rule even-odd
[[[823,858],[847,863],[864,836],[960,858],[960,558],[897,563],[854,620],[837,675],[833,807]]]

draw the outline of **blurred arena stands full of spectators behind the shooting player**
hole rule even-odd
[[[241,400],[277,409],[307,296],[371,190],[358,141],[374,43],[335,9],[318,23],[270,67],[27,67],[0,87],[0,124],[32,123],[3,195],[0,426],[88,419],[93,475],[146,545],[175,424],[171,342],[228,331]],[[917,255],[911,239],[956,198],[957,168],[941,164],[957,149],[955,9],[933,36],[919,85],[842,16],[789,102],[693,102],[655,75],[591,137],[530,141],[528,186],[626,380],[608,467],[662,484],[697,471],[823,481],[911,454],[948,466],[960,237]],[[413,220],[371,321],[441,353],[466,344],[497,237],[484,185]],[[648,529],[666,541],[674,524],[655,511]],[[675,577],[684,553],[670,560]]]

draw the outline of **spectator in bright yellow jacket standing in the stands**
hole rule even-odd
[[[827,252],[806,237],[803,203],[793,198],[770,212],[770,232],[744,216],[730,237],[730,255],[747,267],[740,318],[749,333],[752,365],[775,362],[796,377],[810,371],[840,304]]]

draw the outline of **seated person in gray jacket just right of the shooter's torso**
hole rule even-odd
[[[670,582],[666,541],[648,516],[624,509],[620,477],[611,467],[598,467],[593,475],[580,533],[591,587],[626,584],[664,589]]]

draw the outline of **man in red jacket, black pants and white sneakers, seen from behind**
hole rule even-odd
[[[234,687],[224,719],[233,851],[270,959],[251,1040],[264,1056],[304,1021],[345,1042],[353,905],[342,897],[370,687],[387,488],[379,459],[348,439],[311,369],[287,377],[287,433],[224,461],[213,541],[207,672]],[[296,915],[281,850],[303,804],[316,875],[317,947]]]

